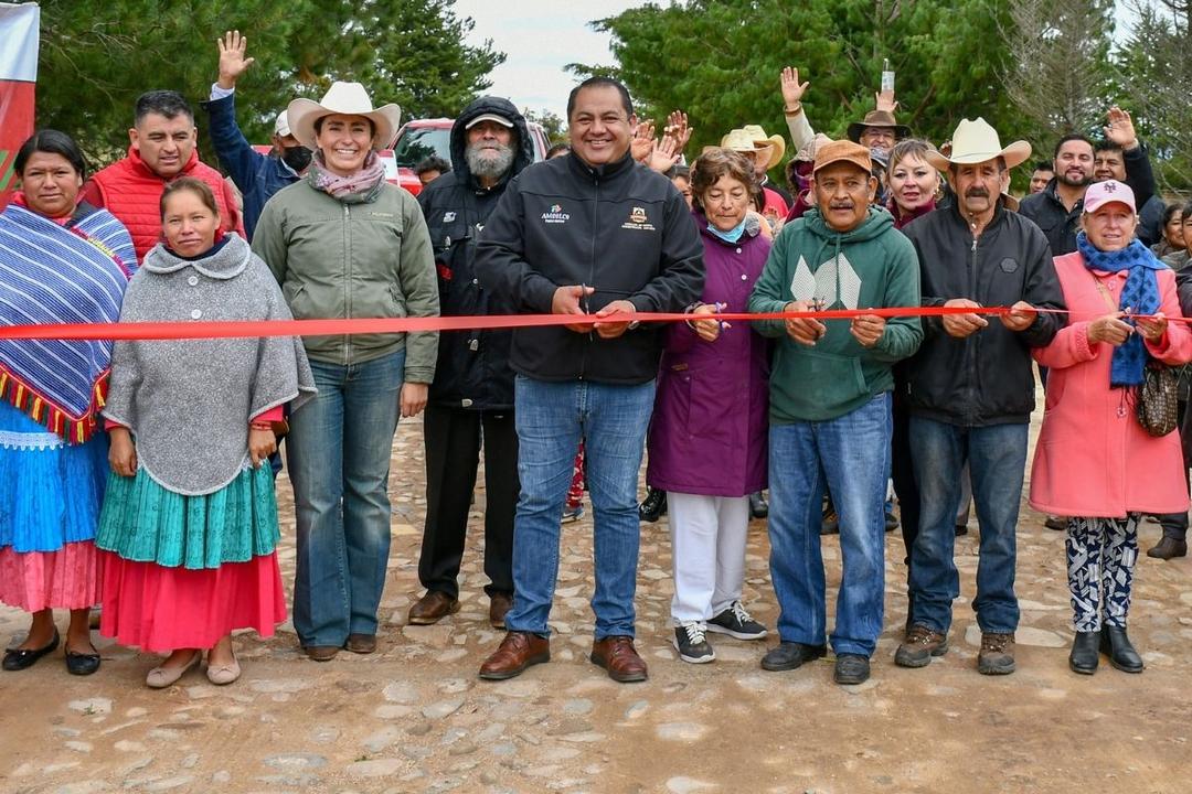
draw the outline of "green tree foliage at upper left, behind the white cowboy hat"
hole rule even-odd
[[[265,143],[294,96],[334,80],[365,83],[404,119],[454,115],[504,61],[464,43],[454,0],[43,0],[37,123],[75,136],[95,161],[128,146],[143,92],[174,88],[195,106],[217,76],[216,39],[240,30],[256,63],[240,81],[240,123]],[[200,146],[203,113],[198,112]]]

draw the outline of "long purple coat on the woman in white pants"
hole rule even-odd
[[[703,239],[704,304],[745,312],[770,242],[747,225],[737,245],[708,231]],[[672,323],[658,369],[646,450],[652,488],[709,496],[744,496],[766,486],[770,346],[751,324],[733,321],[712,343]]]

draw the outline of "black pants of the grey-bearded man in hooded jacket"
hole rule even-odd
[[[418,580],[428,590],[459,598],[467,513],[484,438],[484,592],[514,592],[514,513],[517,509],[517,429],[514,412],[467,411],[427,404],[427,525]]]

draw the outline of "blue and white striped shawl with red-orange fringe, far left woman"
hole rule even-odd
[[[132,240],[106,210],[80,210],[66,226],[17,205],[0,213],[0,325],[119,320]],[[111,360],[111,342],[0,340],[0,396],[82,443]]]

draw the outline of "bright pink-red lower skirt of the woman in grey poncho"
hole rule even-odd
[[[236,629],[272,637],[286,619],[277,554],[219,568],[164,568],[100,551],[104,609],[99,631],[142,651],[207,649]]]

